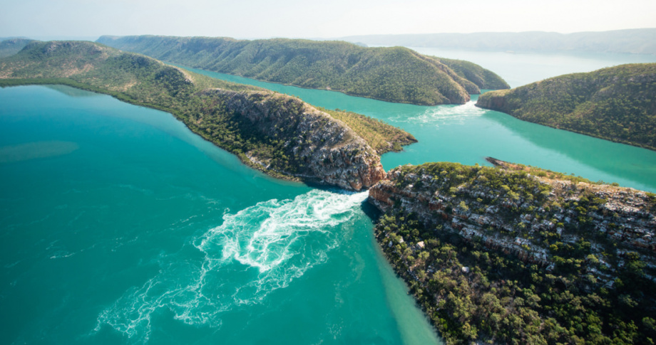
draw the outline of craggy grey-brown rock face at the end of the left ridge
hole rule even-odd
[[[304,181],[360,191],[384,179],[375,150],[352,129],[301,100],[268,91],[207,90],[224,99],[228,110],[246,117],[261,134],[285,141],[285,154],[297,171],[277,171]],[[247,153],[265,170],[270,157]]]

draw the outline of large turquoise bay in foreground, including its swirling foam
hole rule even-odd
[[[270,179],[106,95],[0,105],[0,147],[60,153],[0,163],[4,342],[439,344],[389,285],[366,193]]]

